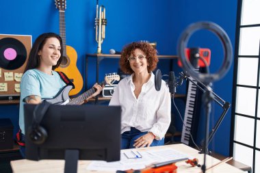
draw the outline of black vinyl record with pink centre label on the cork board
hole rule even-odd
[[[15,38],[0,40],[0,67],[14,70],[23,66],[27,57],[25,46]]]

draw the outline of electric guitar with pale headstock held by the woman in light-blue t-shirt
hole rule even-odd
[[[112,85],[115,81],[119,80],[119,75],[107,75],[105,77],[105,80],[99,83],[99,85]],[[92,94],[94,94],[94,92],[96,92],[95,88],[93,87],[90,90],[81,94],[80,96],[77,96],[76,98],[70,100],[68,93],[72,88],[72,85],[66,85],[54,98],[46,99],[45,101],[56,105],[81,105],[81,103],[83,103],[88,97],[90,97]]]

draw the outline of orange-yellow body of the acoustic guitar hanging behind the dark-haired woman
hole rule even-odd
[[[70,96],[78,94],[83,88],[83,78],[77,68],[77,52],[72,46],[66,46],[66,63],[60,64],[56,71],[61,71],[66,74],[68,79],[73,82],[75,88],[70,91]]]

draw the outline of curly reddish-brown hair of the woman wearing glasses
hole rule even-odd
[[[132,42],[130,44],[127,44],[122,49],[121,58],[119,61],[119,65],[122,72],[125,72],[126,74],[133,73],[128,58],[131,56],[131,54],[134,55],[135,49],[140,49],[146,56],[148,62],[148,66],[147,66],[148,72],[155,70],[155,68],[157,67],[157,63],[159,61],[157,57],[156,49],[154,49],[153,46],[147,42]]]

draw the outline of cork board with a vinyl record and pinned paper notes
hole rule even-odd
[[[30,50],[31,36],[0,34],[0,104],[20,96],[21,77]]]

